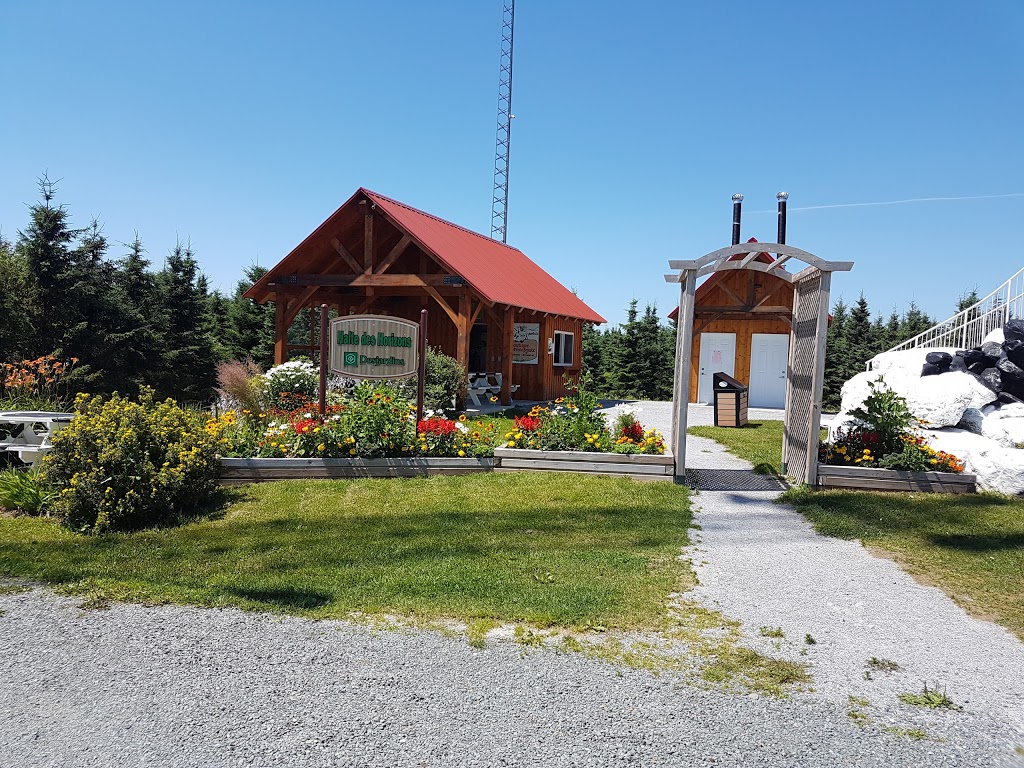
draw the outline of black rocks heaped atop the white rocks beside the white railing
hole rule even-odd
[[[1024,319],[1012,319],[1001,331],[993,331],[980,347],[926,353],[922,376],[949,372],[974,376],[999,402],[1024,402]]]

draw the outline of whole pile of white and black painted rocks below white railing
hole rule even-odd
[[[929,442],[963,459],[987,490],[1024,495],[1024,321],[1010,321],[974,349],[884,352],[872,370],[843,385],[829,436],[850,426],[850,412],[880,376],[926,422]]]

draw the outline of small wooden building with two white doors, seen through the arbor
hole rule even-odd
[[[768,253],[755,260],[775,261]],[[722,270],[697,287],[694,299],[689,401],[712,402],[712,377],[725,373],[748,385],[751,408],[784,408],[793,285],[770,272]],[[677,307],[669,316],[678,314]]]

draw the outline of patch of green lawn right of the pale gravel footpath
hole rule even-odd
[[[1024,499],[794,488],[782,501],[819,534],[891,554],[969,612],[1024,640]]]

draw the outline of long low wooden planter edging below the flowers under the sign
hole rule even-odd
[[[290,479],[426,477],[490,472],[494,459],[220,459],[220,484]]]

